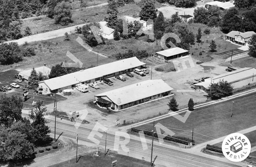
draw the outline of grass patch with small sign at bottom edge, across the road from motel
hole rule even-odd
[[[78,163],[76,163],[76,159],[67,160],[65,162],[61,162],[59,164],[53,165],[54,167],[103,167],[103,166],[111,166],[114,160],[117,160],[117,166],[120,167],[148,167],[150,166],[150,162],[146,162],[144,160],[139,160],[136,158],[132,158],[129,156],[109,153],[106,156],[92,156],[91,154],[83,155]],[[52,166],[52,167],[53,167]]]

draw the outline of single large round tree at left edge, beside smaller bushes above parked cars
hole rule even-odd
[[[0,63],[13,64],[22,60],[18,43],[10,42],[0,45]]]

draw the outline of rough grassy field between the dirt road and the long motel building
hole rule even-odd
[[[70,41],[63,41],[64,37],[58,37],[46,41],[37,41],[30,43],[35,47],[36,55],[33,57],[24,57],[23,61],[12,65],[0,65],[0,71],[10,68],[29,69],[40,67],[46,63],[49,68],[52,65],[67,61],[74,63],[66,56],[67,51],[74,54],[82,63],[84,68],[97,65],[97,55],[87,51],[75,39],[77,35],[70,35]],[[94,50],[95,51],[95,50]],[[108,56],[108,55],[106,55]],[[106,57],[98,56],[98,65],[116,61]]]

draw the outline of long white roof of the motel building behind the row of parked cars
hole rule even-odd
[[[80,70],[77,72],[69,73],[67,75],[47,79],[38,82],[45,83],[50,90],[56,90],[59,88],[71,86],[83,81],[95,79],[108,75],[114,72],[123,71],[129,68],[139,67],[140,65],[145,65],[146,63],[141,62],[137,57],[130,57],[128,59],[114,61],[112,63],[99,65],[97,67],[88,68]]]

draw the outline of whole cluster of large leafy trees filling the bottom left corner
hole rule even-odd
[[[22,99],[17,96],[0,97],[0,161],[30,158],[34,147],[49,139],[50,128],[46,126],[44,107],[37,102],[29,118],[22,118]]]

